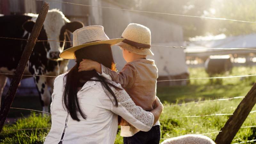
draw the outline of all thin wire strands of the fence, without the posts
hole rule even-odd
[[[212,19],[212,20],[228,20],[228,21],[236,21],[236,22],[244,22],[244,23],[256,23],[255,21],[234,20],[234,19],[227,19],[227,18],[213,18],[213,17],[192,16],[192,15],[181,15],[181,14],[162,13],[162,12],[139,11],[139,10],[130,10],[130,9],[104,7],[104,6],[93,6],[93,5],[85,5],[85,4],[76,4],[76,3],[56,1],[56,0],[33,0],[33,1],[48,1],[48,2],[58,2],[58,3],[90,6],[90,7],[99,7],[99,8],[107,8],[107,9],[132,11],[132,12],[146,12],[146,13],[165,14],[165,15],[182,16],[182,17],[193,17],[193,18],[203,18],[203,19]],[[11,37],[0,37],[0,38],[28,41],[28,39],[21,39],[21,38],[11,38]],[[46,41],[70,42],[70,43],[72,42],[72,41],[57,41],[57,40],[36,40],[36,42],[46,42]],[[183,48],[183,49],[184,48],[191,48],[191,49],[216,49],[216,50],[256,50],[256,49],[253,49],[253,48],[207,48],[207,47],[162,46],[162,45],[151,45],[151,46],[153,46],[153,47],[175,48],[175,49],[177,49],[177,48]],[[14,74],[6,74],[6,73],[0,73],[0,74],[2,74],[2,75],[14,75]],[[44,75],[23,75],[23,76],[44,76]],[[188,79],[175,79],[175,80],[159,80],[157,82],[198,80],[198,79],[217,79],[217,78],[236,78],[236,77],[249,77],[249,76],[256,76],[256,75],[224,76],[224,77],[204,77],[204,78],[188,78]],[[45,76],[45,77],[56,77],[56,76]],[[227,99],[204,100],[204,101],[198,101],[198,102],[191,102],[191,103],[184,103],[184,104],[177,104],[177,105],[169,105],[169,106],[164,106],[164,107],[167,108],[167,107],[175,107],[175,106],[182,106],[182,105],[189,105],[189,104],[197,104],[197,103],[202,103],[202,102],[233,100],[233,99],[240,99],[240,98],[244,98],[244,96],[227,98]],[[42,113],[46,113],[46,114],[51,114],[51,113],[48,113],[48,112],[39,111],[39,110],[33,110],[33,109],[27,109],[27,108],[12,108],[12,109],[30,110],[30,111],[36,111],[36,112],[42,112]],[[255,113],[255,112],[256,112],[256,110],[255,111],[251,111],[250,113]],[[169,119],[177,119],[177,118],[193,118],[193,117],[204,117],[204,116],[230,116],[230,115],[233,115],[233,114],[209,114],[209,115],[200,115],[200,116],[180,116],[180,117],[171,117],[171,118],[160,119],[160,121],[169,120]],[[252,128],[252,127],[256,127],[256,125],[242,126],[241,128]],[[2,131],[2,132],[23,131],[23,130],[44,130],[44,129],[50,129],[50,127],[48,127],[48,128],[31,128],[31,129],[5,130],[5,131]],[[209,133],[201,133],[200,135],[208,135],[208,134],[219,133],[219,132],[222,132],[222,131],[209,132]],[[169,139],[169,138],[161,138],[161,140],[165,140],[165,139]],[[244,142],[240,142],[240,143],[253,142],[253,141],[256,141],[256,140],[249,140],[249,141],[244,141]],[[239,144],[239,143],[235,143],[235,144]]]

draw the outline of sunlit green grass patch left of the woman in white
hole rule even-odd
[[[28,117],[22,117],[15,124],[4,125],[3,131],[18,129],[33,129],[51,127],[50,116],[42,116],[41,114],[31,113]],[[22,130],[9,131],[0,133],[1,144],[39,144],[44,143],[49,129],[42,130]]]

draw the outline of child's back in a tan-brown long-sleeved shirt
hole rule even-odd
[[[130,70],[126,70],[128,68]],[[156,79],[158,77],[154,60],[134,60],[127,63],[119,75],[123,72],[126,72],[124,76],[132,76],[132,72],[134,72],[134,77],[127,77],[129,84],[124,84],[124,82],[121,84],[134,103],[147,111],[154,109],[153,102],[156,99]],[[131,74],[128,74],[129,72]],[[120,83],[115,76],[113,76],[113,80]]]

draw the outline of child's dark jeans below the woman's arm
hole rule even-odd
[[[124,137],[124,144],[159,144],[160,125],[153,126],[148,132],[137,132],[131,137]]]

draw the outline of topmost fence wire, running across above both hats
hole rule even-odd
[[[95,6],[95,5],[87,5],[87,4],[76,4],[76,3],[62,2],[62,1],[56,1],[56,0],[33,0],[33,1],[58,2],[58,3],[64,3],[64,4],[74,4],[74,5],[81,5],[81,6],[99,7],[99,8],[107,8],[107,9],[116,9],[116,10],[132,11],[132,12],[146,12],[146,13],[155,13],[155,14],[182,16],[182,17],[204,18],[204,19],[212,19],[212,20],[229,20],[229,21],[236,21],[236,22],[256,23],[255,21],[234,20],[234,19],[227,19],[227,18],[213,18],[213,17],[203,17],[203,16],[192,16],[192,15],[182,15],[182,14],[173,14],[173,13],[164,13],[164,12],[139,11],[139,10],[131,10],[131,9],[121,9],[121,8],[106,7],[106,6]]]

